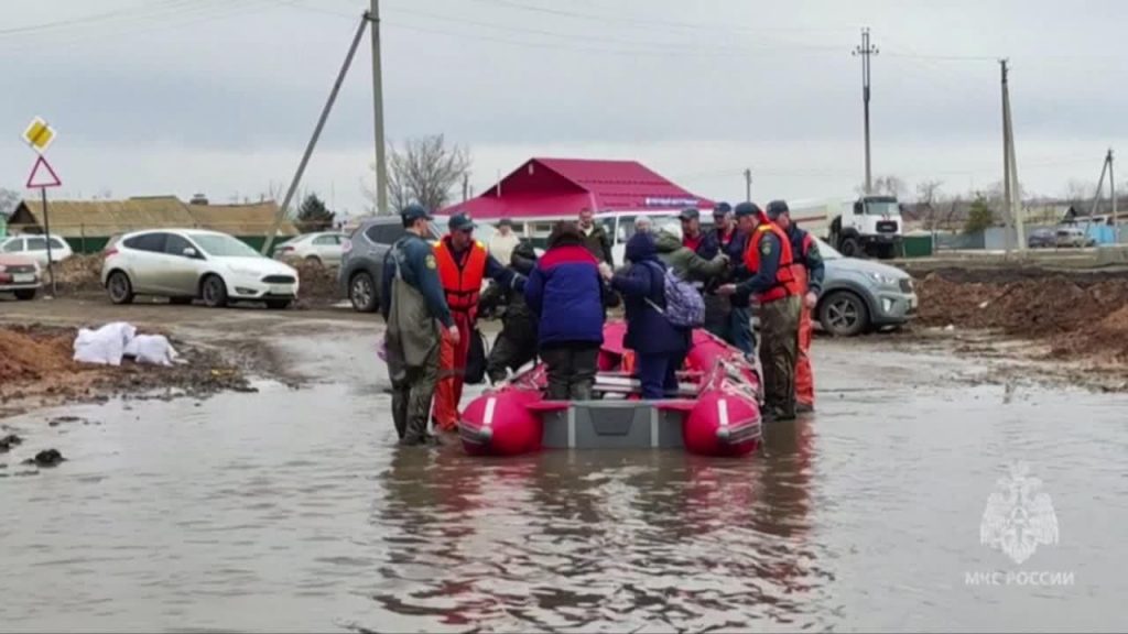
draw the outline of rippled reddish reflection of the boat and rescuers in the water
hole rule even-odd
[[[763,455],[398,451],[371,521],[381,628],[794,627],[832,576],[809,540],[813,434]],[[370,624],[376,626],[377,624]]]

